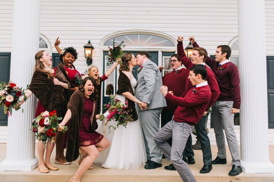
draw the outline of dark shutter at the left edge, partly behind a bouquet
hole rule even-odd
[[[8,82],[11,68],[11,53],[0,52],[0,82]],[[4,114],[3,107],[0,108],[0,126],[8,125],[8,116]]]

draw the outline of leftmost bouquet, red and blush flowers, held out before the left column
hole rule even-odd
[[[16,86],[15,83],[9,81],[8,83],[1,82],[0,84],[0,96],[1,96],[1,101],[0,101],[0,107],[4,106],[4,113],[12,114],[12,109],[15,109],[15,111],[18,111],[21,107],[18,105],[19,98],[21,96],[24,97],[24,100],[27,100],[27,96],[25,96],[25,90],[27,89],[22,89]],[[22,109],[22,112],[24,110]]]

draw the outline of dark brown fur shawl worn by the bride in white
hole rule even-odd
[[[121,71],[118,78],[118,90],[116,94],[122,95],[123,92],[130,92],[134,96],[134,92],[128,76],[126,76],[126,74],[124,74]],[[132,100],[129,100],[129,99],[127,100],[128,100],[128,108],[130,109],[129,114],[132,115],[133,121],[136,121],[138,119],[138,115],[135,108],[135,103]]]

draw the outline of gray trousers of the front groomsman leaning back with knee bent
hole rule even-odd
[[[193,128],[192,125],[176,122],[172,118],[154,137],[155,143],[160,146],[166,159],[172,162],[184,182],[196,182],[186,162],[182,159],[186,141]],[[170,137],[172,137],[172,146],[166,141]]]

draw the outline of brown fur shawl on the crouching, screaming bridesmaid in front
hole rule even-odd
[[[93,111],[90,116],[90,122],[92,122],[92,131],[95,131],[98,127],[96,122],[96,101],[93,102]],[[76,90],[68,102],[68,109],[71,112],[71,118],[68,126],[68,138],[67,138],[67,150],[66,159],[68,162],[72,162],[79,157],[79,131],[82,121],[82,114],[84,110],[84,94],[81,90]]]

